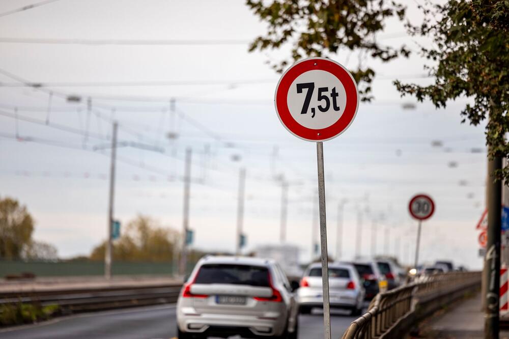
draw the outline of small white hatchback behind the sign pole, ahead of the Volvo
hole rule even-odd
[[[313,307],[323,307],[322,265],[311,264],[304,272],[298,290],[299,311],[311,313]],[[343,308],[360,315],[365,290],[352,265],[329,263],[329,301],[331,308]]]

